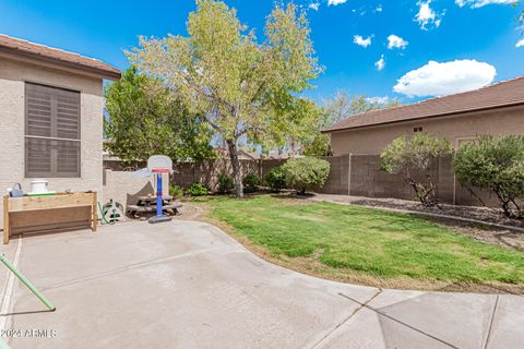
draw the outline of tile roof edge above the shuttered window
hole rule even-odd
[[[37,60],[51,61],[55,63],[91,71],[107,79],[120,79],[120,70],[94,58],[87,58],[78,53],[61,49],[34,44],[0,34],[0,51],[21,55]]]

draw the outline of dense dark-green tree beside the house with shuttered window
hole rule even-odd
[[[140,163],[155,154],[174,160],[198,160],[213,154],[211,130],[190,113],[159,82],[134,68],[105,92],[108,117],[105,147],[126,163]]]

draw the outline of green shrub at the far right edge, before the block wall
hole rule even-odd
[[[456,152],[456,179],[493,192],[510,218],[524,218],[524,136],[481,136]]]

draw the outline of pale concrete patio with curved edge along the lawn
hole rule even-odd
[[[14,258],[16,250],[21,270],[58,310],[43,311],[20,282],[10,287],[0,267],[0,324],[12,329],[3,338],[13,349],[501,349],[524,342],[522,297],[322,280],[264,262],[198,221],[27,237],[0,253]]]

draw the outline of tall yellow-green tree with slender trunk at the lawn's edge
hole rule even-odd
[[[302,120],[288,112],[293,95],[310,87],[322,68],[314,56],[305,11],[275,7],[266,19],[264,39],[237,19],[222,1],[196,0],[188,36],[140,39],[129,52],[147,75],[176,88],[188,108],[222,137],[229,149],[236,194],[243,195],[238,141],[279,142],[282,128]]]

